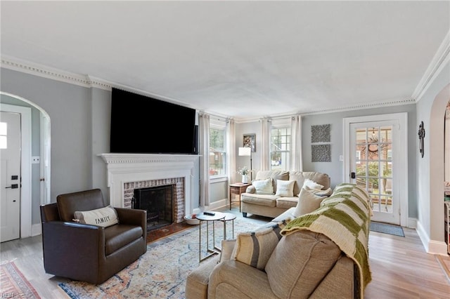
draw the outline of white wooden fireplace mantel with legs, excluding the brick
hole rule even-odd
[[[124,207],[124,184],[143,180],[184,178],[185,215],[192,213],[194,167],[193,154],[99,154],[108,168],[110,204]]]

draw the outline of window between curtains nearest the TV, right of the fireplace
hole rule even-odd
[[[226,175],[226,128],[210,128],[210,177]]]

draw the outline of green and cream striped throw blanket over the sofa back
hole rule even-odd
[[[321,203],[316,211],[291,220],[281,231],[288,235],[297,230],[309,230],[326,235],[339,246],[349,258],[354,260],[359,270],[360,293],[364,298],[364,288],[371,281],[368,264],[368,232],[372,210],[366,190],[353,184],[342,183],[335,187],[333,194]]]

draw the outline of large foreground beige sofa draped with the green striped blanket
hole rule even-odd
[[[222,241],[221,256],[188,275],[186,299],[364,298],[364,288],[371,281],[368,196],[354,185],[342,184],[328,199],[313,213],[290,220],[264,269],[237,260],[235,240]],[[329,214],[338,203],[338,213]],[[342,205],[348,208],[342,210]],[[356,213],[342,213],[350,210]],[[290,218],[291,211],[278,220]],[[317,215],[319,230],[311,225]]]

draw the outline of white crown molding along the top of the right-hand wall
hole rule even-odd
[[[437,49],[437,52],[433,59],[428,65],[425,74],[423,74],[422,79],[420,79],[416,89],[413,92],[411,97],[418,102],[425,91],[430,87],[432,82],[436,79],[436,77],[442,72],[442,69],[445,67],[447,63],[450,62],[450,30],[447,32],[444,41],[442,41],[441,45]]]

